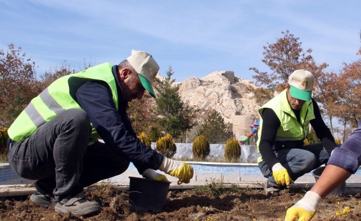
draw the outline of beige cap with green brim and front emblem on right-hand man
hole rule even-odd
[[[305,69],[293,71],[288,77],[291,96],[303,101],[311,101],[313,79],[312,73]]]

